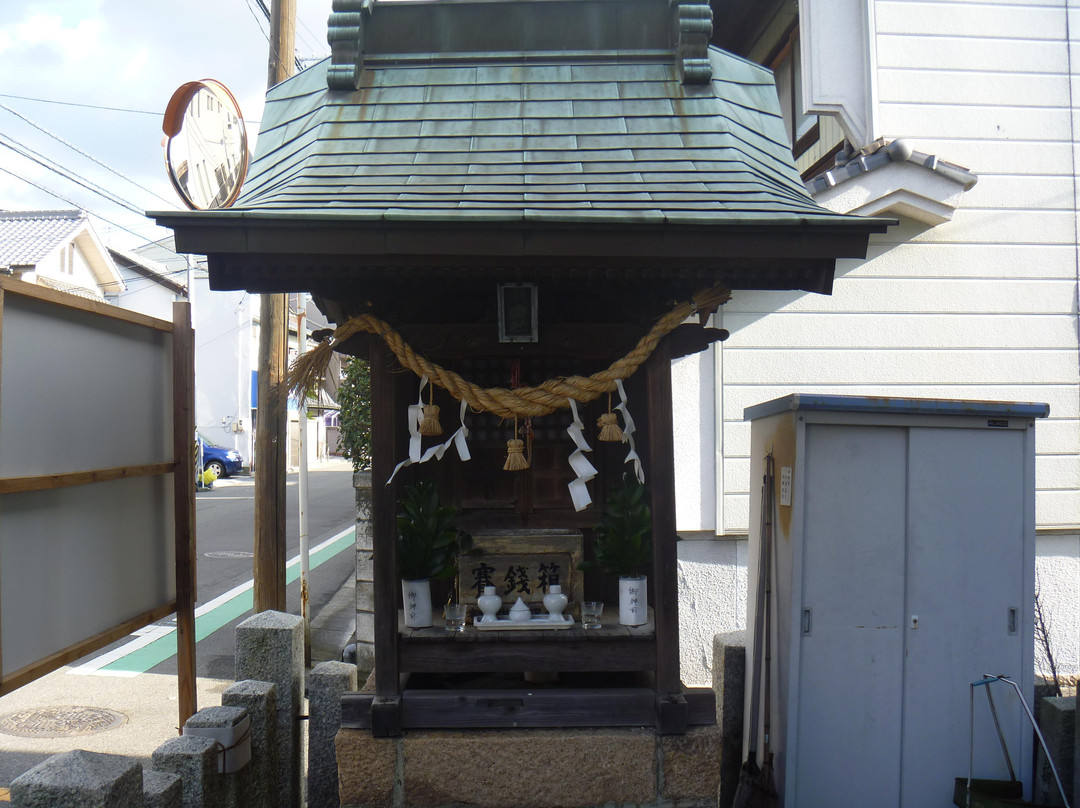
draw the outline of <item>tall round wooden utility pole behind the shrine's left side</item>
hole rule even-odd
[[[296,0],[271,0],[267,86],[293,72]],[[285,610],[285,362],[288,298],[260,295],[259,387],[255,425],[255,611]]]

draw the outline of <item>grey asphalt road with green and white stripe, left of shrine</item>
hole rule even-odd
[[[286,558],[299,554],[297,475],[286,481]],[[254,481],[237,476],[219,481],[197,497],[199,553],[195,649],[197,675],[233,677],[235,627],[248,617],[252,604],[252,548],[255,523]],[[312,550],[311,612],[350,581],[355,570],[351,528],[355,517],[352,467],[334,461],[309,473],[308,535]],[[286,588],[287,610],[300,611],[299,564],[293,564]],[[135,638],[103,649],[77,666],[84,672],[176,673],[174,619],[147,627]],[[345,638],[347,639],[347,638]],[[342,641],[343,644],[345,641]]]

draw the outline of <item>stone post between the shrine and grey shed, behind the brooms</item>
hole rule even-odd
[[[746,633],[732,631],[713,637],[713,690],[720,746],[718,805],[729,806],[742,768],[743,705],[746,700]]]

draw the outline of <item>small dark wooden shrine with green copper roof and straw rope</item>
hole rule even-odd
[[[677,735],[712,723],[711,691],[679,681],[671,361],[725,336],[708,317],[740,289],[828,294],[836,260],[864,257],[890,220],[814,204],[771,73],[708,45],[707,2],[334,8],[332,57],[268,93],[237,203],[154,217],[177,250],[207,256],[212,287],[310,292],[352,324],[333,347],[370,361],[376,690],[351,702],[351,726]],[[658,334],[665,318],[675,322]],[[629,368],[627,356],[640,361]],[[576,379],[591,378],[606,389],[578,398]],[[546,412],[502,396],[536,389]],[[449,445],[394,474],[418,398],[441,405],[445,430],[417,436],[421,450],[464,427],[471,459]],[[633,445],[598,442],[598,417],[623,403]],[[503,471],[515,439],[528,468]],[[569,536],[576,547],[549,550],[572,562],[591,556],[610,486],[636,472],[631,448],[652,509],[646,625],[404,628],[404,485],[435,482],[464,529],[516,537],[518,553]],[[616,601],[598,574],[573,585]],[[563,679],[492,695],[498,677],[522,672]]]

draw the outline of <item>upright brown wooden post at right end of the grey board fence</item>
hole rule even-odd
[[[179,726],[199,710],[195,691],[195,353],[191,305],[173,304],[173,502]]]

